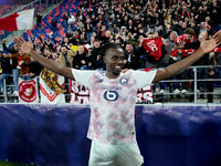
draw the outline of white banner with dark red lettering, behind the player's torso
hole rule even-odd
[[[88,104],[90,103],[90,90],[84,89],[82,85],[73,80],[70,80],[70,95],[71,104]],[[151,86],[145,86],[137,91],[136,104],[152,104]]]

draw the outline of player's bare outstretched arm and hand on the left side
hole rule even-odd
[[[74,75],[72,74],[71,68],[66,68],[61,65],[57,62],[54,62],[52,60],[49,60],[41,54],[39,54],[36,51],[33,50],[33,43],[31,42],[31,39],[29,39],[29,43],[25,42],[22,38],[14,38],[13,41],[18,44],[18,46],[25,53],[30,54],[32,58],[34,58],[39,63],[41,63],[46,69],[66,76],[69,79],[75,80]]]

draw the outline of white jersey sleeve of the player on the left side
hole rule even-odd
[[[75,81],[86,87],[88,87],[90,85],[88,82],[93,73],[94,71],[90,71],[90,70],[80,71],[80,70],[72,69],[72,74],[75,77]]]

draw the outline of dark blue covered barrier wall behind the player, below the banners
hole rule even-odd
[[[87,166],[86,105],[1,104],[0,160],[40,166]],[[136,106],[145,165],[220,166],[220,105]]]

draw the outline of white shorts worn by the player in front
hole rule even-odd
[[[140,166],[144,158],[137,144],[103,144],[92,141],[88,166]]]

